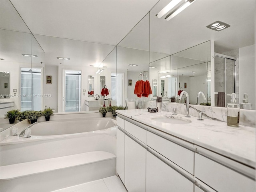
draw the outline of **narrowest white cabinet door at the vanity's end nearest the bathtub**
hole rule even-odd
[[[124,133],[118,128],[116,129],[116,172],[124,183]]]

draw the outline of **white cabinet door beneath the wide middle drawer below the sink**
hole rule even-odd
[[[147,192],[193,192],[194,184],[147,151]]]

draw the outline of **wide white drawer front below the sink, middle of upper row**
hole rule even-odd
[[[174,142],[147,131],[146,144],[168,158],[190,174],[194,175],[194,152]]]

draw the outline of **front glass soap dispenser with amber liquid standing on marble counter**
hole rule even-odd
[[[240,104],[236,103],[236,94],[231,94],[231,103],[227,105],[227,124],[228,126],[238,127]]]

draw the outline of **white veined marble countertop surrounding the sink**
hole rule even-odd
[[[231,127],[227,126],[226,122],[209,119],[198,121],[196,117],[186,118],[182,114],[178,116],[190,120],[191,123],[170,124],[152,120],[152,118],[172,114],[166,111],[150,113],[147,109],[132,109],[116,112],[197,146],[255,167],[256,129],[254,127],[242,125]]]

